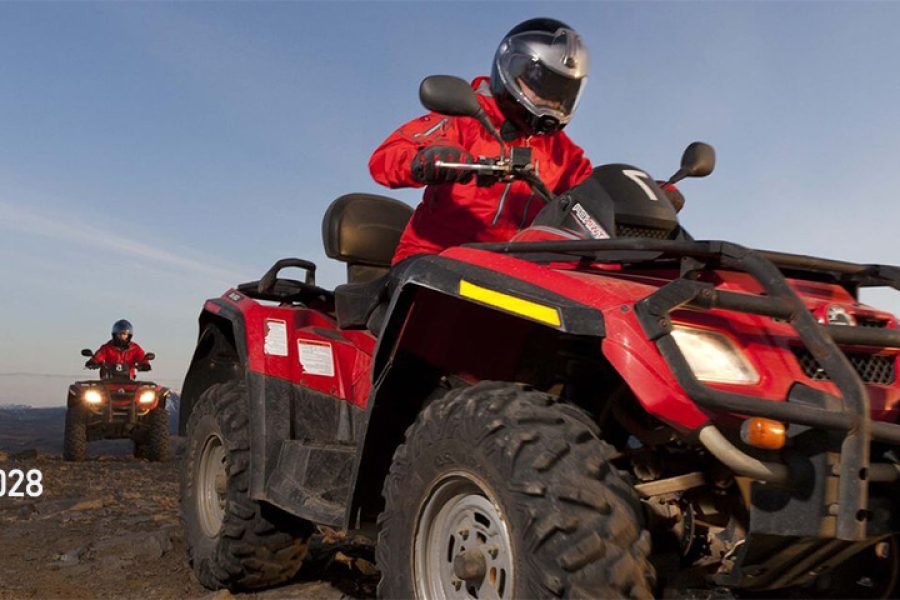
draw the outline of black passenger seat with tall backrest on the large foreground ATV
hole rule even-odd
[[[325,254],[347,263],[347,281],[334,290],[341,329],[378,333],[379,306],[388,298],[388,271],[400,235],[412,216],[407,204],[374,194],[347,194],[331,203],[322,220]]]

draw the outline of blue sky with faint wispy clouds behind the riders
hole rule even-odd
[[[696,237],[900,263],[900,3],[0,3],[0,404],[61,404],[121,317],[177,387],[203,299],[277,258],[340,283],[321,216],[384,192],[368,157],[419,80],[542,15],[592,52],[568,131],[595,164],[716,146]]]

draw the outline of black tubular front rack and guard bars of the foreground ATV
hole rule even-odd
[[[539,262],[574,258],[587,264],[677,268],[680,277],[637,302],[635,313],[678,383],[694,402],[710,410],[841,432],[836,534],[845,540],[865,539],[869,483],[877,479],[873,473],[880,472],[877,467],[887,466],[888,476],[894,479],[897,476],[896,469],[890,465],[870,464],[870,446],[872,441],[900,445],[900,424],[873,422],[865,384],[838,344],[900,348],[900,330],[820,325],[790,287],[786,276],[832,281],[854,292],[860,287],[900,290],[900,267],[752,250],[720,241],[614,239],[469,244],[467,247],[524,255]],[[696,279],[700,271],[716,268],[749,274],[759,282],[765,295],[720,291]],[[670,315],[679,307],[718,308],[785,321],[838,388],[841,398],[800,386],[793,390],[800,392],[791,394],[794,397],[786,398],[785,402],[772,402],[705,385],[694,376],[670,335]],[[797,402],[797,395],[805,401]]]

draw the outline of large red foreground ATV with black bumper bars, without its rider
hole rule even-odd
[[[493,131],[461,80],[420,96]],[[387,598],[890,595],[900,329],[857,294],[900,268],[695,241],[630,165],[553,197],[495,137],[444,166],[531,183],[512,242],[389,270],[411,211],[353,194],[323,222],[347,284],[285,259],[206,302],[180,415],[199,580],[277,584],[313,524],[377,523]],[[713,163],[692,144],[670,181]]]

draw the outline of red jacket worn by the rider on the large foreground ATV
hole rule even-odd
[[[472,87],[491,122],[499,129],[504,117],[490,96],[488,78],[475,79]],[[369,160],[372,177],[390,188],[421,187],[412,177],[412,159],[419,149],[433,145],[458,146],[476,158],[500,155],[500,144],[475,119],[431,113],[402,126],[375,150]],[[584,151],[564,132],[518,138],[508,145],[532,148],[532,161],[554,193],[578,185],[591,173],[591,162],[585,158]],[[394,264],[415,254],[436,254],[468,242],[511,239],[531,223],[544,203],[533,196],[527,183],[516,181],[498,217],[500,197],[506,185],[477,187],[473,179],[465,184],[426,187],[422,202],[400,238]]]

